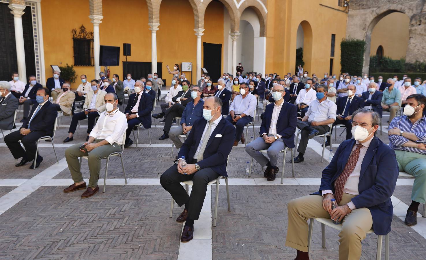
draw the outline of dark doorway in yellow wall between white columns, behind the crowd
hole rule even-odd
[[[222,44],[204,42],[203,46],[203,67],[207,69],[207,75],[212,81],[216,82],[222,75]]]

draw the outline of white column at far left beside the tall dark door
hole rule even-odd
[[[19,79],[23,82],[26,80],[25,50],[24,50],[24,33],[22,29],[22,15],[24,14],[25,5],[11,3],[9,8],[12,10],[15,23],[15,42],[16,42],[16,60],[18,63]]]

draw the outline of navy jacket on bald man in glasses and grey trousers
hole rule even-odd
[[[262,124],[260,125],[259,134],[269,134],[269,127],[271,126],[272,112],[275,104],[269,104],[265,108],[263,114]],[[294,148],[294,132],[296,132],[297,122],[297,107],[284,101],[281,111],[279,112],[278,120],[276,122],[276,133],[281,135],[282,140],[286,147]]]

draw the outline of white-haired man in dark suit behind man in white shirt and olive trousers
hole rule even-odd
[[[153,98],[143,90],[142,81],[135,82],[135,93],[130,94],[124,113],[127,119],[126,143],[124,148],[133,144],[129,138],[133,127],[142,123],[144,128],[151,128],[151,110],[153,109]]]

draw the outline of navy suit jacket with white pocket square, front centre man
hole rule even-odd
[[[178,158],[185,156],[187,163],[193,160],[206,124],[207,120],[204,118],[194,121],[186,141],[179,150]],[[234,143],[235,131],[235,127],[222,116],[207,142],[204,159],[197,162],[200,169],[210,168],[219,175],[228,176],[226,164]]]

